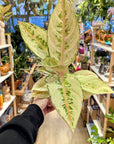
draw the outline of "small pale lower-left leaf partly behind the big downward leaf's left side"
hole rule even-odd
[[[34,84],[32,90],[35,91],[35,92],[48,91],[47,84],[46,84],[46,82],[45,82],[45,77],[39,79],[39,80]]]

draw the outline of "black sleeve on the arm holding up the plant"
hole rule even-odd
[[[43,120],[41,109],[35,104],[29,105],[23,114],[0,128],[0,144],[34,144]]]

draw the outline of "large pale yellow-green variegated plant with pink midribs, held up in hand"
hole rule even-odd
[[[90,71],[73,74],[68,71],[76,57],[80,39],[71,4],[67,0],[58,1],[48,30],[25,22],[19,22],[19,27],[27,46],[41,58],[42,67],[38,71],[46,74],[33,86],[33,96],[50,97],[60,116],[74,131],[83,99],[113,91]]]

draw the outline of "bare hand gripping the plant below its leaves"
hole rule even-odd
[[[38,105],[41,108],[44,115],[55,109],[52,105],[51,99],[49,98],[48,99],[34,98],[33,104]]]

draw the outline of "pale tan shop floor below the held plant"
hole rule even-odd
[[[72,134],[67,124],[54,110],[45,117],[35,144],[89,144],[88,138],[88,132],[83,127],[81,117],[74,134]]]

